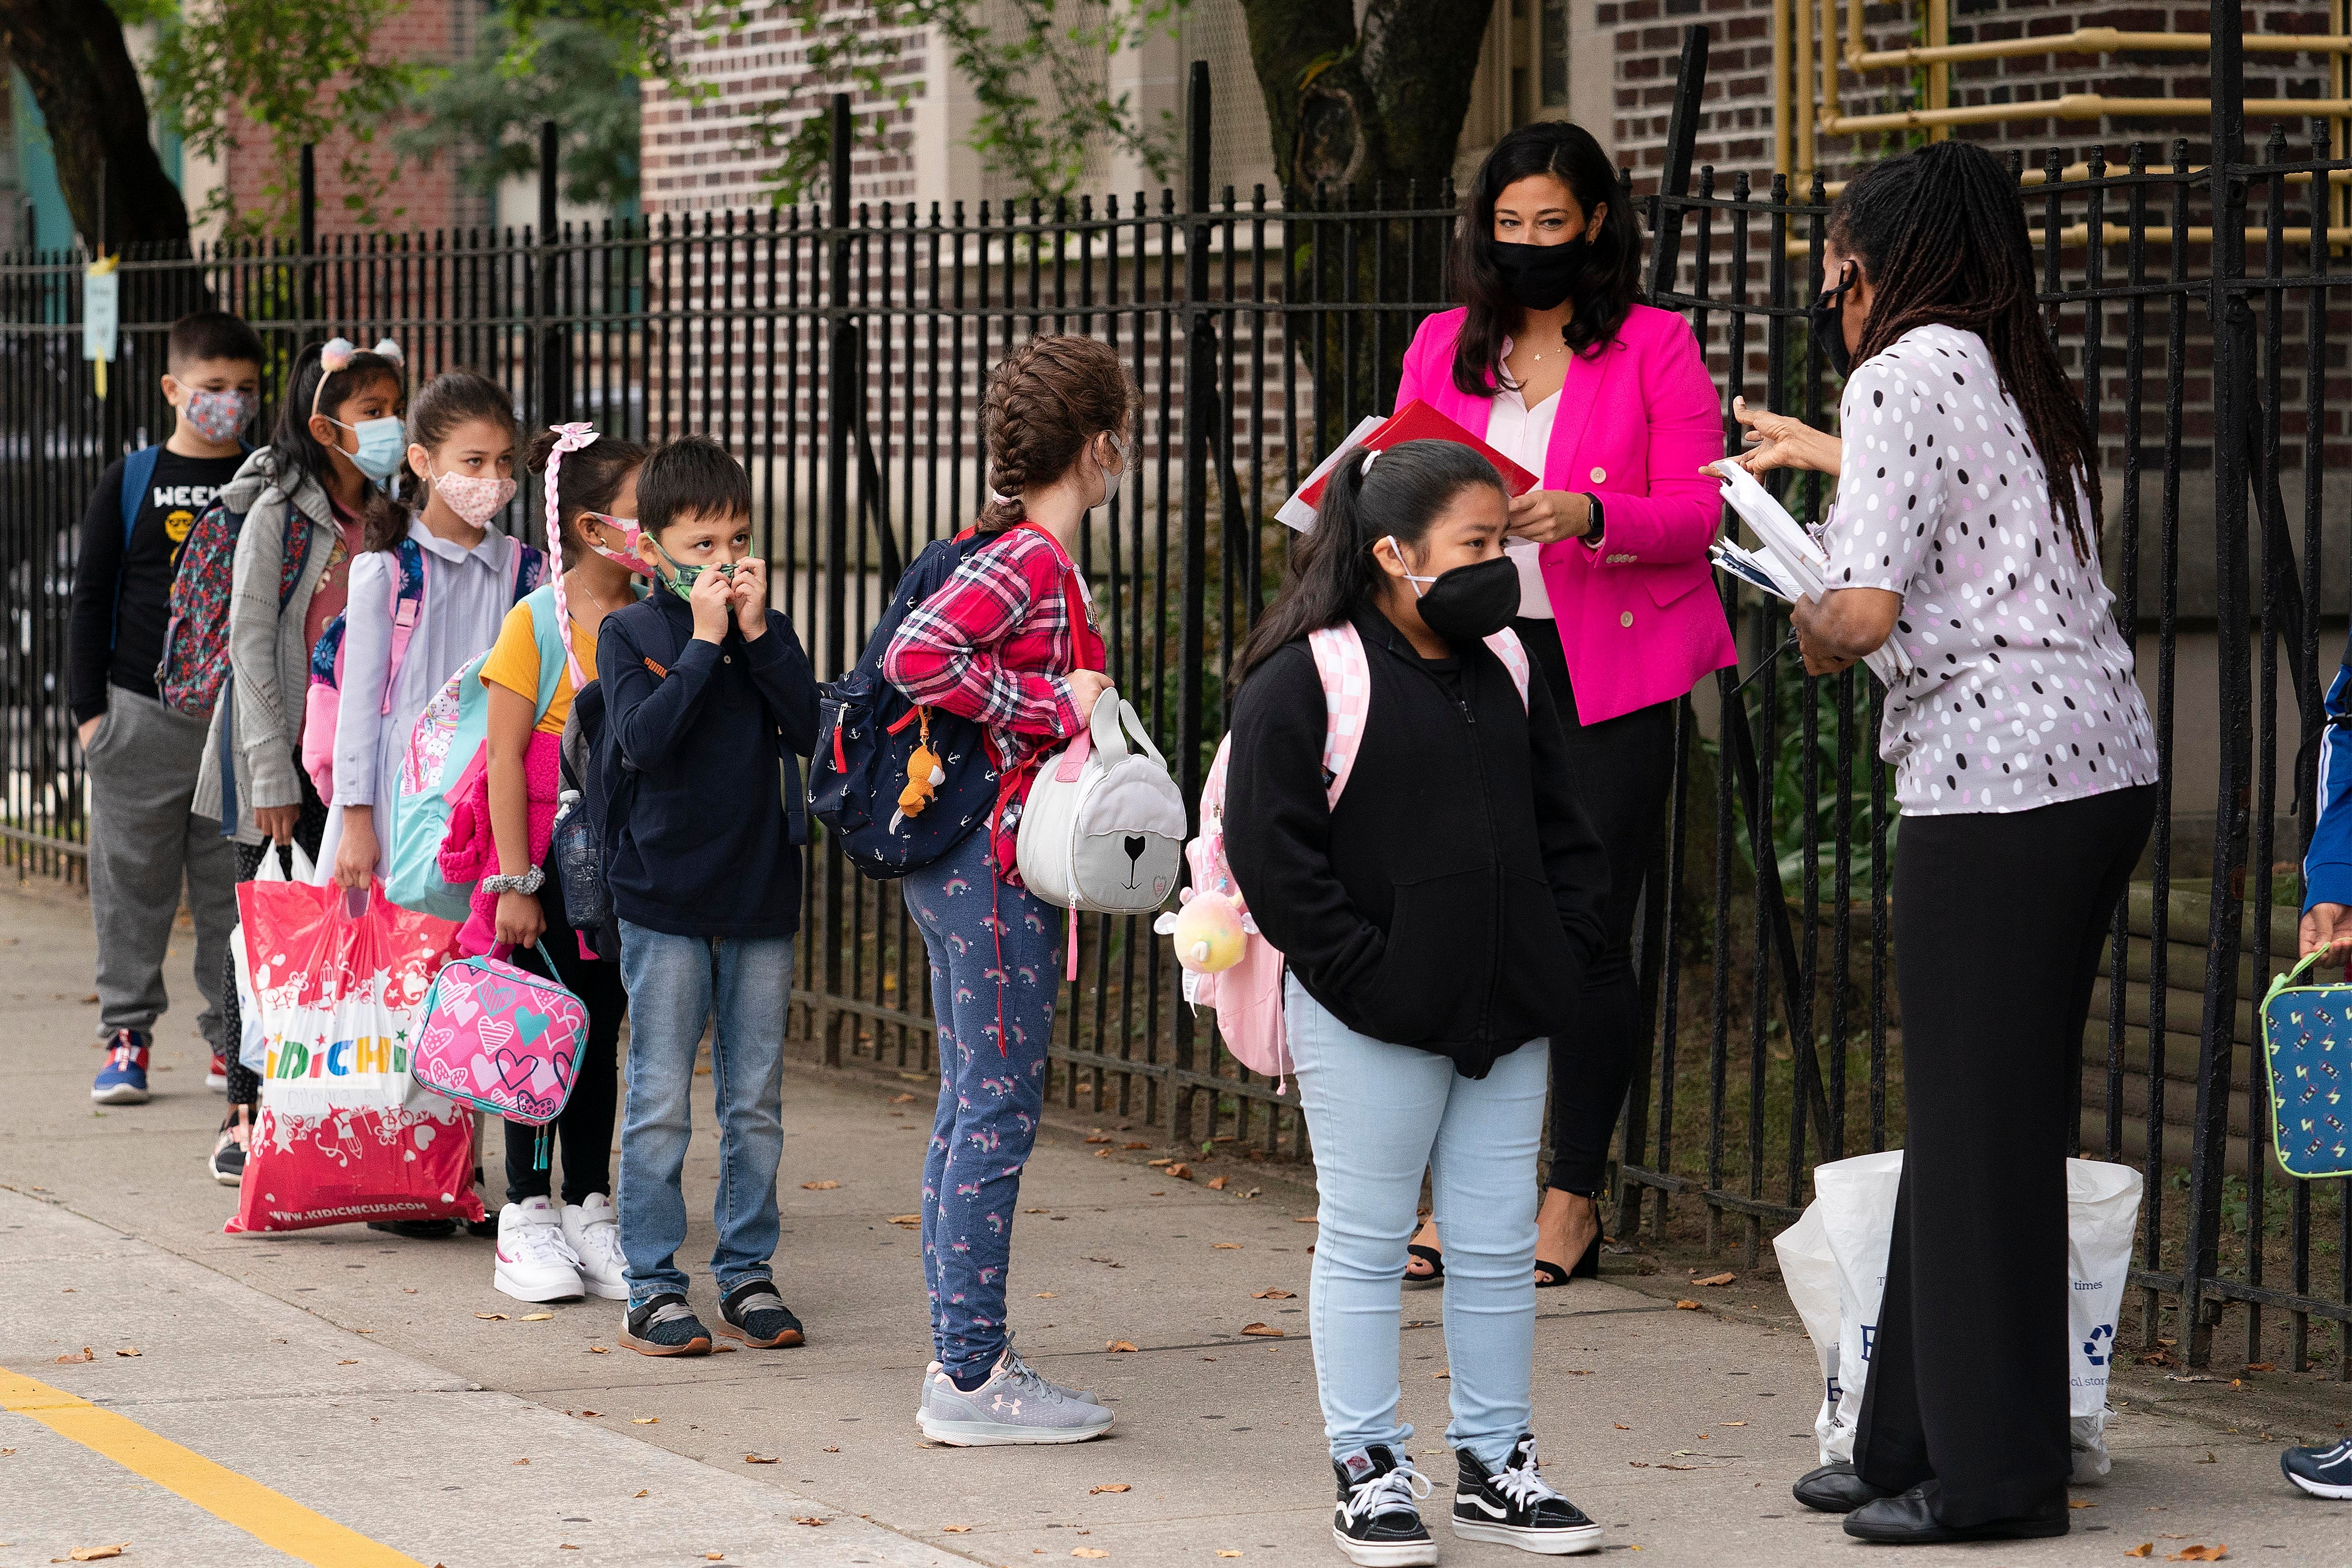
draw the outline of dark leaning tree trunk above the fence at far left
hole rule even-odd
[[[103,0],[0,0],[0,54],[33,85],[82,240],[96,247],[103,235],[108,252],[186,247],[188,205],[148,141],[146,94],[113,9]]]

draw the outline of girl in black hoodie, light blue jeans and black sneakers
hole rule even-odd
[[[1536,1469],[1536,1145],[1545,1039],[1602,943],[1609,867],[1543,677],[1510,642],[1508,496],[1454,442],[1348,458],[1235,665],[1225,858],[1289,959],[1322,1199],[1308,1314],[1355,1563],[1435,1563],[1404,1453],[1397,1328],[1421,1171],[1446,1234],[1454,1533],[1543,1554],[1599,1526]],[[1364,731],[1329,799],[1310,632],[1362,646]],[[1522,693],[1524,679],[1524,693]]]

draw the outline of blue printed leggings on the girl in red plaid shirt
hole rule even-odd
[[[922,1161],[922,1276],[931,1345],[971,1380],[1004,1354],[1004,1272],[1021,1166],[1044,1105],[1044,1048],[1061,983],[1056,938],[1068,919],[997,882],[985,827],[903,879],[906,907],[931,950],[938,1018],[938,1114]]]

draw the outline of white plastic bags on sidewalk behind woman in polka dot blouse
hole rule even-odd
[[[2074,1481],[2110,1469],[2107,1368],[2114,1326],[2131,1276],[2131,1234],[2140,1218],[2140,1173],[2096,1159],[2065,1161],[2067,1175],[2067,1415]],[[1823,1408],[1813,1420],[1820,1462],[1853,1458],[1886,1251],[1893,1239],[1903,1150],[1839,1159],[1813,1171],[1813,1204],[1773,1239],[1790,1300],[1813,1335],[1823,1373]],[[1830,1279],[1835,1276],[1835,1281]],[[1835,1326],[1830,1302],[1835,1300]]]

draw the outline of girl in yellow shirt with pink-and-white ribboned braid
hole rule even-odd
[[[564,1192],[550,1194],[553,1161],[536,1159],[541,1128],[506,1124],[506,1208],[492,1284],[527,1302],[572,1295],[628,1300],[621,1229],[612,1204],[612,1119],[619,1095],[614,1051],[628,992],[621,964],[593,957],[564,912],[564,891],[548,860],[562,780],[562,733],[574,682],[595,679],[595,644],[604,616],[637,599],[637,571],[614,550],[607,520],[637,517],[637,465],[644,447],[600,435],[593,425],[557,425],[532,437],[527,468],[541,475],[548,555],[562,574],[506,614],[499,642],[482,661],[489,693],[489,832],[496,877],[475,893],[468,938],[494,936],[513,961],[548,976],[588,1009],[588,1039],[574,1063],[572,1098],[550,1143],[562,1143]],[[562,637],[550,646],[548,632]],[[477,931],[492,907],[492,931]]]

